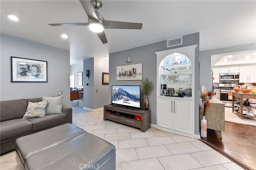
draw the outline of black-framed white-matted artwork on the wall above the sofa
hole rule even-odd
[[[47,61],[11,56],[11,82],[48,82]]]

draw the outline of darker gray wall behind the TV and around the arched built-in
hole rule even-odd
[[[167,38],[166,38],[167,39]],[[151,124],[156,125],[156,54],[157,51],[163,51],[167,49],[174,49],[178,47],[185,47],[188,45],[195,45],[196,47],[196,59],[195,62],[196,68],[199,68],[199,33],[190,34],[188,36],[183,36],[182,45],[177,45],[174,47],[166,47],[166,41],[153,43],[149,45],[145,45],[142,47],[136,47],[133,49],[128,49],[124,51],[119,51],[116,53],[110,53],[109,54],[109,91],[111,91],[111,85],[140,85],[141,81],[117,81],[116,80],[116,66],[121,65],[130,65],[130,64],[139,64],[142,63],[142,76],[143,78],[147,77],[150,81],[153,82],[154,89],[150,95],[148,95],[148,102],[149,102],[149,109],[151,111]],[[126,57],[128,55],[131,55],[133,57],[132,63],[126,63]],[[199,69],[198,69],[199,70]],[[196,70],[196,75],[199,74],[199,71]],[[195,89],[195,91],[199,91],[199,76],[196,77],[196,84],[195,87],[198,87],[198,89]],[[111,93],[110,93],[111,94]],[[111,101],[111,96],[109,95],[109,101]],[[196,96],[195,104],[199,101],[199,96]],[[142,105],[144,105],[144,101],[142,101]],[[199,127],[199,111],[198,107],[195,107],[195,132],[198,134],[198,127]]]

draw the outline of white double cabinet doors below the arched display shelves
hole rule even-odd
[[[192,134],[192,102],[178,99],[158,99],[158,126]]]

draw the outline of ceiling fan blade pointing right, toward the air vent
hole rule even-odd
[[[104,27],[108,29],[142,29],[141,23],[119,22],[104,20]]]

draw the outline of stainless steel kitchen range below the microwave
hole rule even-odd
[[[219,84],[220,89],[220,101],[225,104],[225,107],[232,107],[232,97],[228,97],[229,92],[235,92],[233,87],[238,84]]]

